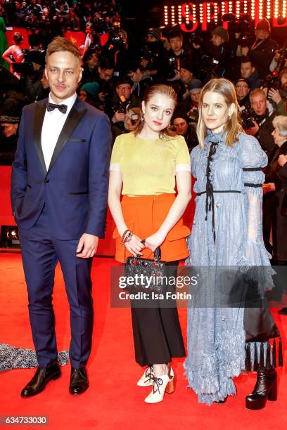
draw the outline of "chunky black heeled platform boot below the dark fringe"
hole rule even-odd
[[[245,399],[247,409],[262,409],[268,400],[277,400],[277,374],[275,369],[259,370],[255,388]]]

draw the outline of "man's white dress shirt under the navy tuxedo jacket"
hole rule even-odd
[[[72,109],[72,105],[75,103],[76,98],[77,94],[75,93],[69,98],[61,101],[61,103],[58,103],[60,105],[67,105],[67,112],[65,114],[60,112],[58,109],[51,110],[51,112],[46,110],[45,112],[41,142],[47,170],[49,169],[53,151],[58,141],[58,137],[60,136],[60,132],[63,129],[65,120],[68,118],[69,112]],[[51,93],[49,94],[49,103],[56,104],[51,98]]]

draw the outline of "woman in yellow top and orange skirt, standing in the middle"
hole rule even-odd
[[[169,129],[176,104],[172,87],[151,86],[142,102],[141,122],[115,140],[108,203],[116,225],[115,258],[122,263],[136,254],[152,258],[159,246],[162,261],[173,267],[189,255],[189,228],[181,216],[191,199],[191,167],[184,138]],[[149,308],[132,306],[132,325],[136,362],[147,366],[138,385],[153,386],[145,401],[157,403],[165,391],[174,390],[169,363],[185,356],[175,301],[172,308],[162,307],[160,300]]]

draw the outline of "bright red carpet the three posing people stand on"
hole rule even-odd
[[[51,429],[286,429],[287,377],[279,370],[279,399],[268,402],[260,411],[245,410],[244,400],[255,384],[255,374],[236,379],[238,395],[224,405],[199,405],[186,389],[183,360],[174,360],[176,391],[165,395],[162,403],[147,405],[149,388],[139,388],[136,380],[141,368],[134,363],[132,327],[129,309],[110,308],[109,273],[113,259],[95,259],[94,346],[89,360],[90,388],[82,396],[68,393],[70,366],[34,398],[20,398],[20,390],[34,370],[11,370],[0,376],[0,415],[46,415]],[[0,341],[33,348],[27,312],[27,293],[20,254],[0,254]],[[54,292],[58,350],[68,349],[70,341],[68,301],[63,278],[56,271]],[[186,309],[179,310],[183,332]],[[275,313],[281,332],[287,317]],[[283,335],[283,346],[286,339]],[[284,351],[285,363],[287,361]],[[285,366],[286,369],[286,366]]]

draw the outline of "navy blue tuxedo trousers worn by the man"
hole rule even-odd
[[[77,258],[79,240],[59,240],[53,237],[50,226],[49,207],[45,204],[32,228],[25,230],[20,227],[30,324],[37,360],[39,367],[49,367],[57,359],[52,295],[55,267],[59,261],[70,304],[70,363],[72,367],[84,367],[91,351],[94,320],[92,259]]]

